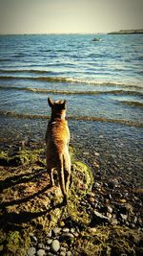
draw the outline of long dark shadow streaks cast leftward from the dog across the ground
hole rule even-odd
[[[48,176],[46,170],[36,170],[32,173],[12,175],[11,177],[7,177],[6,179],[0,181],[0,192],[3,192],[5,195],[5,190],[12,191],[14,189],[16,191],[16,185],[20,187],[20,185],[26,184],[28,187],[29,182],[33,181],[33,184],[35,184],[37,179],[39,182],[41,182],[41,185],[43,182],[41,181],[42,177],[45,177],[47,181]],[[51,221],[51,211],[55,208],[62,207],[62,203],[53,204],[51,199],[51,203],[47,209],[45,207],[44,210],[41,210],[41,207],[36,207],[34,212],[33,209],[31,211],[31,199],[36,201],[37,197],[42,198],[45,196],[45,193],[46,195],[51,193],[51,185],[48,184],[44,186],[44,184],[42,184],[41,188],[39,186],[36,190],[33,190],[31,195],[25,196],[24,198],[14,198],[13,195],[13,197],[9,197],[7,200],[5,199],[0,203],[0,226],[3,229],[21,229],[23,228],[22,224],[28,223],[42,216],[46,216],[48,221]],[[27,211],[27,208],[21,206],[21,204],[25,205],[25,203],[29,203],[31,205],[30,211]],[[9,207],[10,209],[12,208],[12,210],[9,210]]]

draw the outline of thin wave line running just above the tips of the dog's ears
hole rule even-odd
[[[31,87],[16,87],[16,86],[3,86],[0,85],[0,90],[20,90],[20,91],[29,91],[33,93],[44,93],[44,94],[63,94],[63,95],[134,95],[142,96],[142,93],[139,91],[127,91],[127,90],[105,90],[105,91],[70,91],[70,90],[49,90],[44,88],[31,88]],[[123,103],[126,103],[123,101]],[[128,103],[128,102],[127,102]],[[129,102],[130,103],[130,102]]]

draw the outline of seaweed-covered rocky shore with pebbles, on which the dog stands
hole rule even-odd
[[[6,150],[1,151],[0,249],[7,252],[4,255],[30,255],[31,250],[37,253],[40,249],[43,255],[89,251],[91,254],[85,255],[133,255],[133,251],[139,255],[143,251],[143,190],[133,191],[123,183],[124,177],[100,176],[98,168],[93,176],[92,169],[80,162],[71,147],[71,194],[67,207],[58,207],[61,194],[57,187],[49,188],[44,147],[43,143],[27,141],[5,145]],[[55,240],[57,251],[53,249]],[[124,248],[122,243],[126,244]]]

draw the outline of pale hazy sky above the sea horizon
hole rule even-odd
[[[0,34],[143,29],[143,0],[0,0]]]

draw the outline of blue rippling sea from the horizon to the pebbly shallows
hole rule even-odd
[[[142,184],[143,35],[0,35],[1,146],[44,142],[48,97],[94,173]]]

